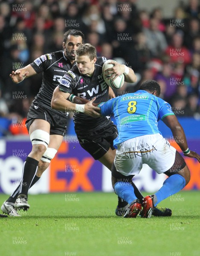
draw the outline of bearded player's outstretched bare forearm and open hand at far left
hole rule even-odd
[[[32,66],[29,64],[26,67],[23,67],[21,69],[18,69],[16,71],[12,71],[10,74],[10,78],[14,83],[20,83],[23,81],[26,77],[33,76],[37,74],[35,70],[32,68]]]

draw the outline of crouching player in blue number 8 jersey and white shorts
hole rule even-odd
[[[119,135],[114,140],[116,157],[112,167],[112,184],[116,194],[130,204],[126,218],[150,218],[152,210],[160,201],[183,189],[190,180],[190,171],[180,153],[162,137],[158,130],[161,119],[177,140],[183,154],[196,158],[200,155],[188,149],[182,126],[171,110],[168,102],[159,98],[160,86],[157,81],[148,80],[141,84],[140,90],[102,102],[101,115],[112,113],[116,119]],[[146,163],[158,174],[165,173],[168,178],[154,195],[142,200],[136,198],[132,178],[139,174]]]

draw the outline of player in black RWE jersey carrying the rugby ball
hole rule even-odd
[[[99,108],[94,108],[90,113],[87,110],[89,105],[93,105],[92,102],[106,102],[109,99],[109,87],[102,75],[102,66],[106,58],[97,57],[96,48],[91,44],[82,44],[75,51],[75,61],[76,65],[63,76],[55,88],[51,106],[59,111],[74,112],[75,132],[80,145],[95,160],[99,160],[111,170],[116,151],[113,140],[118,136],[118,131],[110,118],[100,116]],[[136,81],[132,69],[114,61],[111,63],[114,64],[113,68],[106,71],[108,76],[111,75],[110,79],[125,74],[125,81]],[[75,96],[87,99],[90,103],[79,105],[66,100]],[[98,115],[99,117],[96,117]],[[122,202],[121,205],[119,203],[117,210],[128,207],[126,202]],[[121,215],[121,212],[117,211],[116,214]],[[162,212],[158,214],[162,215]]]

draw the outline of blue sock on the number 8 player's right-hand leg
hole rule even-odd
[[[157,197],[157,202],[154,205],[156,206],[160,201],[179,192],[184,186],[186,186],[186,180],[183,176],[179,174],[171,175],[164,181],[163,186],[158,192],[154,194]]]

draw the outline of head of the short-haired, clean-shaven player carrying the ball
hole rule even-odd
[[[92,76],[96,62],[96,48],[91,44],[82,44],[75,51],[75,61],[82,75]]]

